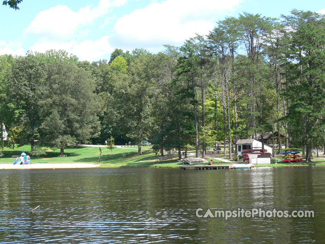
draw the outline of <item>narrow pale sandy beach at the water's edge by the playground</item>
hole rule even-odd
[[[0,169],[82,169],[82,168],[95,168],[99,164],[0,164]]]

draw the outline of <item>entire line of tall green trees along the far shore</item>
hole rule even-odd
[[[272,19],[243,13],[165,51],[115,49],[80,62],[65,51],[0,56],[5,145],[64,148],[149,140],[164,154],[213,142],[273,136],[302,147],[307,161],[325,142],[325,18],[291,11]],[[276,133],[275,133],[276,132]],[[0,127],[3,135],[4,127]],[[224,147],[224,155],[226,154]]]

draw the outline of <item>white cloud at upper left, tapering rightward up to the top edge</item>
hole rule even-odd
[[[77,12],[72,11],[68,6],[58,5],[41,11],[24,32],[43,38],[59,40],[69,38],[77,33],[78,27],[107,14],[110,8],[125,3],[126,0],[101,0],[98,6],[88,5]]]

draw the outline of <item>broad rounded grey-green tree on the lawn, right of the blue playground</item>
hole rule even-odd
[[[48,63],[47,74],[39,103],[42,145],[64,148],[87,143],[99,131],[98,100],[90,74],[64,61]]]

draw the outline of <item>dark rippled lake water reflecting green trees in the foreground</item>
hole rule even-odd
[[[196,216],[252,207],[315,217]],[[1,243],[321,243],[324,235],[323,167],[0,171]]]

